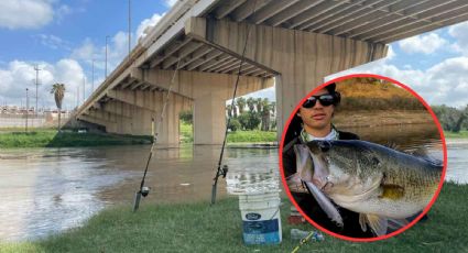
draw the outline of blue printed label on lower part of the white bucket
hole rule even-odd
[[[243,221],[246,244],[280,243],[279,220]]]

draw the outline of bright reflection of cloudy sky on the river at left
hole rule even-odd
[[[88,150],[3,152],[0,169],[0,239],[43,237],[74,227],[101,209],[96,194],[119,183]]]

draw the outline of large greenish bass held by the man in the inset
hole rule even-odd
[[[358,212],[362,231],[370,228],[378,237],[391,226],[404,227],[406,218],[429,204],[444,168],[428,156],[360,140],[312,141],[294,150],[293,176],[306,184],[328,217],[342,226],[335,205]]]

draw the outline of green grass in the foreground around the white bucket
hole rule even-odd
[[[447,183],[428,213],[429,219],[385,241],[353,243],[325,235],[300,252],[467,252],[468,186]],[[0,252],[291,252],[291,227],[285,220],[290,204],[281,208],[283,242],[272,246],[246,246],[236,198],[191,205],[143,204],[115,207],[91,218],[83,228],[36,242],[0,243]]]

